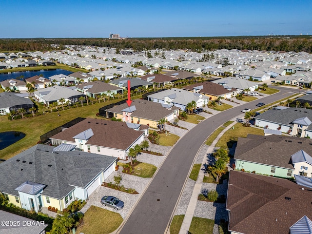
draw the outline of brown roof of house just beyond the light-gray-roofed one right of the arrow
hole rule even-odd
[[[236,89],[233,89],[233,88],[231,89],[232,91],[227,90],[222,85],[215,84],[209,81],[188,85],[187,87],[183,87],[182,89],[193,91],[195,87],[200,86],[200,85],[202,85],[203,88],[199,90],[198,93],[202,93],[202,94],[220,96],[220,95],[229,94],[229,93],[232,93],[233,91],[236,91]]]

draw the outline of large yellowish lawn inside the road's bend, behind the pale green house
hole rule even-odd
[[[215,146],[232,148],[233,143],[237,141],[237,137],[247,137],[247,134],[264,136],[263,129],[245,127],[244,123],[236,123],[234,129],[226,131]]]

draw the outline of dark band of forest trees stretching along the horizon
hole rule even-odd
[[[259,50],[259,51],[305,51],[312,53],[311,36],[279,37],[215,37],[215,38],[130,38],[124,40],[102,38],[56,38],[56,39],[0,39],[0,51],[44,51],[56,50],[52,44],[91,45],[144,51],[153,49],[185,50],[207,52],[219,49]]]

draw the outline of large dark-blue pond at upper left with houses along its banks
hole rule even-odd
[[[38,71],[20,71],[20,72],[10,72],[10,73],[0,73],[0,81],[6,80],[6,79],[19,79],[20,76],[23,76],[24,79],[33,77],[33,76],[39,76],[43,75],[44,78],[49,78],[54,75],[69,75],[73,72],[63,70],[63,69],[50,69],[50,70],[38,70]]]

